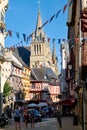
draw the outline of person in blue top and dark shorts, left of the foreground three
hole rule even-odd
[[[14,121],[15,121],[15,130],[19,127],[18,130],[21,130],[21,124],[20,124],[20,110],[19,107],[16,106],[14,110]]]

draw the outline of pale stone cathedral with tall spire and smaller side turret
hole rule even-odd
[[[38,9],[36,29],[32,33],[30,51],[30,68],[49,67],[57,76],[59,75],[55,44],[53,44],[53,50],[51,53],[50,42],[42,28],[40,9]]]

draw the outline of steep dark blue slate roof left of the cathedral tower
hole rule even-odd
[[[13,55],[24,65],[30,67],[30,48],[29,47],[16,47]]]

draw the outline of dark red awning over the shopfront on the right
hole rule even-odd
[[[75,99],[65,99],[57,103],[62,106],[73,106],[75,104]]]

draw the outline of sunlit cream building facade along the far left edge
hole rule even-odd
[[[3,108],[3,86],[5,79],[1,76],[2,64],[5,61],[4,57],[4,39],[6,37],[5,13],[8,7],[8,0],[0,0],[0,115]]]

